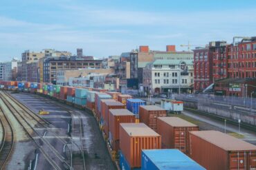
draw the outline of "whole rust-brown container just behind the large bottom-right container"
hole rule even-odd
[[[176,117],[158,118],[157,133],[162,136],[163,149],[189,151],[189,131],[198,131],[199,127]]]

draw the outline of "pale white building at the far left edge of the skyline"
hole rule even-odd
[[[1,81],[16,81],[18,61],[12,59],[12,61],[0,63],[0,80]]]

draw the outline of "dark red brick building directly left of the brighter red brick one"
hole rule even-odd
[[[194,91],[227,77],[226,41],[212,41],[194,51]]]

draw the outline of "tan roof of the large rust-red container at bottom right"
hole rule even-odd
[[[226,151],[247,151],[255,150],[256,146],[244,140],[223,134],[220,131],[191,131],[191,134],[206,140]]]

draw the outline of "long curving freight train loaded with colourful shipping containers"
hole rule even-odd
[[[51,83],[0,81],[0,89],[40,94],[91,111],[118,169],[256,169],[255,145],[167,117],[168,105],[147,106],[119,92]],[[176,111],[183,109],[183,103],[174,104]]]

